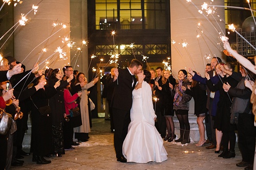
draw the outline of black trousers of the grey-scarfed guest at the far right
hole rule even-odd
[[[253,163],[256,135],[256,127],[254,127],[254,115],[240,113],[237,128],[238,146],[242,154],[242,161]]]

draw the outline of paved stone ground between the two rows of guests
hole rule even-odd
[[[237,167],[242,157],[236,148],[235,158],[219,158],[214,150],[195,147],[195,143],[181,145],[175,142],[164,142],[168,159],[162,163],[121,163],[116,161],[113,145],[113,133],[110,133],[110,122],[104,118],[93,119],[90,139],[80,143],[74,151],[66,151],[62,157],[52,157],[50,164],[38,165],[32,162],[32,155],[24,158],[24,165],[12,169],[244,169]],[[27,150],[28,151],[28,150]]]

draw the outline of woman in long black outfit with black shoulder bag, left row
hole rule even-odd
[[[32,118],[32,146],[33,146],[33,161],[37,164],[47,164],[51,161],[46,160],[43,156],[52,153],[52,123],[51,114],[41,113],[38,108],[49,106],[49,98],[57,93],[56,88],[60,85],[57,81],[54,86],[44,87],[46,82],[45,75],[36,79],[34,87],[38,85],[43,87],[38,89],[32,96],[33,105],[31,107]],[[44,114],[44,115],[42,115]]]

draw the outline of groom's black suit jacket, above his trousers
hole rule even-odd
[[[134,85],[132,86],[134,79]],[[132,108],[132,92],[136,85],[135,76],[132,76],[128,68],[120,69],[118,79],[113,82],[112,78],[111,85],[114,86],[112,95],[111,106],[120,110],[131,110]],[[118,84],[117,84],[118,83]]]

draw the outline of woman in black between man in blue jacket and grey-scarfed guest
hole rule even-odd
[[[209,74],[205,73],[207,78],[206,84],[211,91],[220,91],[220,101],[218,102],[217,114],[215,117],[214,128],[223,133],[223,152],[218,157],[231,158],[235,157],[234,146],[236,144],[236,134],[234,133],[234,126],[230,124],[230,107],[232,104],[232,96],[228,95],[223,89],[223,83],[229,84],[231,87],[236,87],[240,81],[238,74],[233,71],[234,64],[226,63],[224,65],[226,70],[232,71],[231,76],[221,70],[220,64],[216,66],[217,74],[219,75],[220,81],[214,85],[210,81]],[[229,149],[228,149],[229,145]]]

